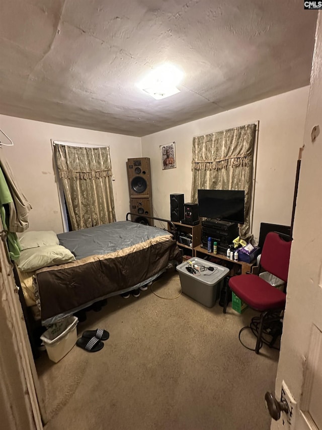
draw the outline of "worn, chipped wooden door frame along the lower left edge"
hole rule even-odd
[[[18,297],[12,267],[8,262],[3,239],[3,224],[0,219],[0,413],[1,428],[40,430],[47,417],[40,394],[38,378],[33,362],[27,329],[23,323],[22,309]]]

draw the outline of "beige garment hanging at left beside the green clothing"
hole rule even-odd
[[[11,232],[22,233],[29,227],[28,215],[31,205],[20,190],[15,175],[3,153],[1,153],[0,157],[0,167],[12,197],[11,201],[7,202],[9,205],[9,222],[7,228]]]

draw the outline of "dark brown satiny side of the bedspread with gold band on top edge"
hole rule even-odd
[[[119,294],[162,273],[169,261],[182,262],[177,242],[169,235],[127,250],[91,256],[36,272],[43,324],[94,301]]]

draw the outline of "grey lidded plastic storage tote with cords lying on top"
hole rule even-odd
[[[189,261],[199,267],[211,266],[214,270],[212,272],[209,270],[200,272],[200,276],[198,272],[196,274],[189,273],[186,269],[187,266],[191,266],[188,263]],[[182,292],[199,303],[204,304],[207,308],[212,308],[220,295],[224,277],[228,274],[229,269],[196,257],[190,258],[188,262],[185,261],[177,266]]]

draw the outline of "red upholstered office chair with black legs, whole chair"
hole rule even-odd
[[[291,238],[285,235],[281,235],[276,232],[270,232],[265,238],[263,245],[260,268],[265,271],[272,273],[278,278],[282,279],[285,283],[287,281],[288,266],[291,252]],[[260,270],[259,270],[260,272]],[[280,321],[281,317],[279,311],[283,311],[285,308],[286,294],[283,291],[275,288],[264,279],[256,275],[238,275],[233,276],[229,279],[228,283],[231,290],[238,296],[241,300],[247,303],[250,308],[261,312],[259,318],[259,324],[256,324],[257,329],[257,342],[255,347],[255,352],[258,354],[260,348],[263,345],[263,329],[266,322],[270,319],[273,313],[277,312],[277,318],[275,320]],[[225,300],[224,310],[226,311]],[[255,317],[256,318],[256,317]],[[272,320],[271,320],[272,322]],[[252,328],[252,326],[251,326]],[[239,332],[239,339],[240,333]],[[253,329],[254,332],[254,329]],[[273,337],[272,342],[265,341],[264,343],[273,346],[277,336]],[[251,349],[251,348],[249,348]]]

